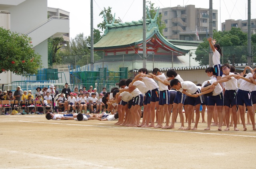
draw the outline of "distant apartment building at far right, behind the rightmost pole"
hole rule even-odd
[[[222,31],[230,31],[232,27],[241,28],[243,32],[248,32],[248,20],[225,20],[221,23]],[[251,19],[251,33],[256,33],[256,19]]]

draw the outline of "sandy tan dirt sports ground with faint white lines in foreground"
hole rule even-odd
[[[199,123],[197,131],[178,130],[180,123],[175,129],[114,123],[46,120],[44,115],[0,116],[0,168],[256,168],[252,125],[244,132],[238,124],[240,131],[235,132],[233,128],[218,131],[216,126],[204,131],[206,123]]]

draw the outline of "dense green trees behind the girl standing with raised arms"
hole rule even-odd
[[[247,33],[242,32],[240,28],[232,27],[230,31],[214,31],[213,39],[216,39],[223,49],[223,63],[247,63]],[[206,38],[203,41],[196,49],[195,60],[199,61],[200,65],[208,65],[209,42]]]

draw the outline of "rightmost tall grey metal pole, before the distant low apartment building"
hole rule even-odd
[[[251,0],[248,0],[248,63],[252,67]]]

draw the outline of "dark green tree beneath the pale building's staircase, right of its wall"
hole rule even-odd
[[[58,50],[63,46],[60,45],[64,41],[63,37],[48,38],[48,64],[61,63],[62,57],[58,55]]]

